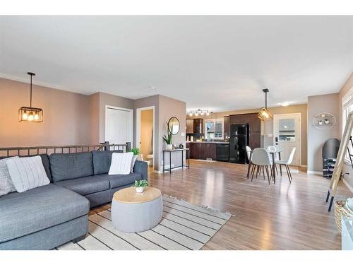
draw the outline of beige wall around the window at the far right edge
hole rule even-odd
[[[338,102],[339,102],[339,110],[340,110],[340,135],[339,139],[342,139],[342,98],[346,95],[346,93],[353,88],[353,73],[349,78],[347,79],[346,83],[342,86],[340,93],[338,93]],[[350,186],[349,188],[353,192],[353,169],[350,163],[347,163],[347,165],[343,165],[342,173],[349,173],[349,175],[345,175],[345,181],[347,181],[348,185]]]

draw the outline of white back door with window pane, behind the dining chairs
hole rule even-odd
[[[300,116],[300,113],[273,116],[273,140],[275,146],[282,150],[281,160],[287,160],[292,148],[296,148],[292,165],[301,165]]]

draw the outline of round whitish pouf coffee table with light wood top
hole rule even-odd
[[[112,222],[122,232],[142,232],[154,228],[162,218],[163,201],[159,189],[145,187],[137,194],[135,187],[120,189],[112,200]]]

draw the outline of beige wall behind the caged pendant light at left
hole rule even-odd
[[[90,143],[90,96],[33,86],[33,107],[41,123],[18,122],[18,109],[30,105],[29,84],[0,78],[0,146],[54,146]]]

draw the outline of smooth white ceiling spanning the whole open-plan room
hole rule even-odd
[[[353,71],[353,16],[1,16],[0,34],[4,78],[188,110],[306,102]]]

